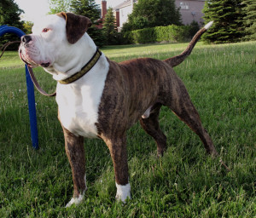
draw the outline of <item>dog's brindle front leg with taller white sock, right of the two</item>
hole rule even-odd
[[[128,175],[128,162],[126,151],[126,138],[104,140],[109,148],[113,160],[113,169],[115,175],[115,185],[117,192],[115,198],[125,203],[127,198],[131,198],[131,186]]]

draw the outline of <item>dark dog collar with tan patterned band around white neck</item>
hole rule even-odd
[[[101,57],[102,52],[100,51],[100,49],[96,49],[96,53],[93,54],[92,58],[86,63],[86,65],[84,65],[81,69],[81,71],[73,74],[71,77],[68,77],[64,80],[59,80],[58,82],[61,84],[69,84],[69,83],[73,83],[76,80],[78,80],[80,77],[83,77],[87,72],[90,71],[90,69],[96,65],[96,62],[99,60],[99,58]]]

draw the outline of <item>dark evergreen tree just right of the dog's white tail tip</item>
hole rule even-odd
[[[212,27],[202,36],[207,43],[236,43],[244,36],[241,0],[207,0],[204,20],[213,20]]]

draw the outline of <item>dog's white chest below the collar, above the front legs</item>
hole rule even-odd
[[[108,67],[100,72],[96,68],[77,82],[57,85],[56,101],[61,123],[74,135],[97,136],[95,123]]]

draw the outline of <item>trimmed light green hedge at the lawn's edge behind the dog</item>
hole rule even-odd
[[[156,26],[142,30],[132,31],[133,43],[160,43],[160,42],[184,42],[190,36],[190,26]]]

